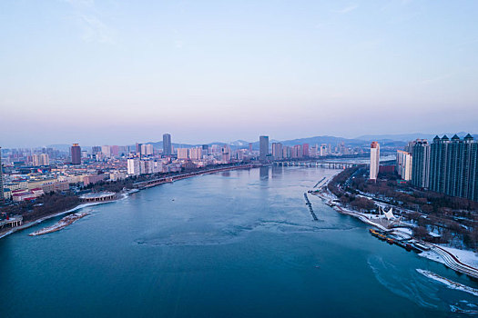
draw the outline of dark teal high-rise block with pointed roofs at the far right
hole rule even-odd
[[[435,136],[430,147],[429,189],[478,201],[478,143],[473,137]]]

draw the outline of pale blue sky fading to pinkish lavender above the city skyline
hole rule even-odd
[[[0,146],[478,133],[477,1],[0,1]]]

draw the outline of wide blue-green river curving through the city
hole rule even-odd
[[[448,317],[477,287],[303,194],[336,171],[270,167],[163,184],[64,230],[0,240],[2,317]]]

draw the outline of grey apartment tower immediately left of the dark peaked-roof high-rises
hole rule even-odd
[[[430,144],[417,139],[412,144],[412,184],[419,188],[430,186]]]

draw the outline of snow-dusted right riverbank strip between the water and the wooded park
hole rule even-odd
[[[384,226],[384,224],[381,224],[380,222],[382,219],[380,217],[376,219],[371,219],[365,214],[361,214],[360,212],[352,211],[350,209],[346,209],[342,207],[341,204],[338,202],[339,198],[335,194],[331,194],[331,192],[328,190],[327,186],[331,182],[331,179],[323,183],[320,186],[319,190],[317,189],[312,190],[310,194],[320,197],[320,199],[322,199],[322,201],[324,201],[325,204],[331,206],[338,213],[351,215],[361,220],[361,222],[365,224],[370,224],[371,226],[374,226],[380,229],[381,231],[385,231],[385,232],[394,231],[394,229],[390,229],[387,226]],[[420,240],[417,240],[417,241],[420,241]],[[419,253],[420,256],[426,257],[434,262],[442,263],[446,267],[453,269],[456,272],[464,273],[464,274],[467,274],[468,276],[478,279],[478,268],[473,266],[475,263],[478,263],[478,257],[475,256],[474,259],[470,258],[469,254],[473,253],[472,251],[455,250],[455,249],[447,248],[434,243],[425,243],[425,242],[422,242],[422,243],[425,244],[427,247],[429,247],[430,250],[427,252]],[[434,256],[432,256],[431,254],[433,254]],[[466,258],[463,257],[463,254],[465,254],[468,257]]]

